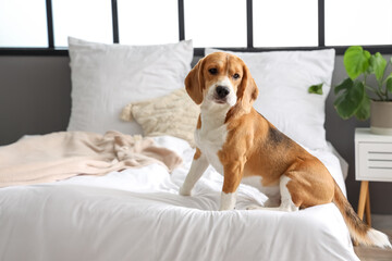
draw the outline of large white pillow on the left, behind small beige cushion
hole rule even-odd
[[[69,38],[72,110],[68,130],[105,134],[113,129],[143,134],[120,120],[130,102],[157,98],[184,87],[191,70],[192,41],[161,46],[123,46]]]

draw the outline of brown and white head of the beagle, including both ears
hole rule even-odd
[[[237,57],[213,52],[201,59],[185,78],[187,94],[197,103],[250,110],[258,89],[248,67]]]

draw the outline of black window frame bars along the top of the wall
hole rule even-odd
[[[185,14],[184,0],[179,1],[179,40],[185,40]],[[284,47],[284,48],[255,48],[253,37],[253,0],[246,0],[246,27],[247,27],[247,46],[245,48],[225,48],[216,47],[229,51],[242,52],[260,52],[260,51],[277,51],[277,50],[320,50],[334,48],[336,54],[343,54],[348,46],[326,46],[326,26],[324,26],[324,1],[318,0],[318,46],[317,47]],[[53,14],[52,0],[46,0],[47,8],[47,32],[48,32],[48,47],[46,48],[0,48],[0,55],[52,55],[64,57],[69,55],[66,48],[54,47],[54,32],[53,32]],[[111,0],[112,8],[112,27],[113,27],[113,44],[120,44],[119,34],[119,18],[118,18],[118,1]],[[392,45],[377,45],[363,46],[371,53],[381,52],[384,54],[392,54]],[[195,55],[204,55],[205,48],[195,48]]]

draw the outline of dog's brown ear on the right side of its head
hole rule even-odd
[[[237,98],[241,100],[243,109],[249,111],[254,101],[257,99],[258,88],[245,63],[243,64],[243,72],[244,75],[237,89]]]

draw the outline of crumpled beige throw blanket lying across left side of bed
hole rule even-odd
[[[105,175],[151,163],[172,171],[181,162],[175,152],[140,136],[60,132],[0,147],[0,187],[56,182],[76,175]]]

